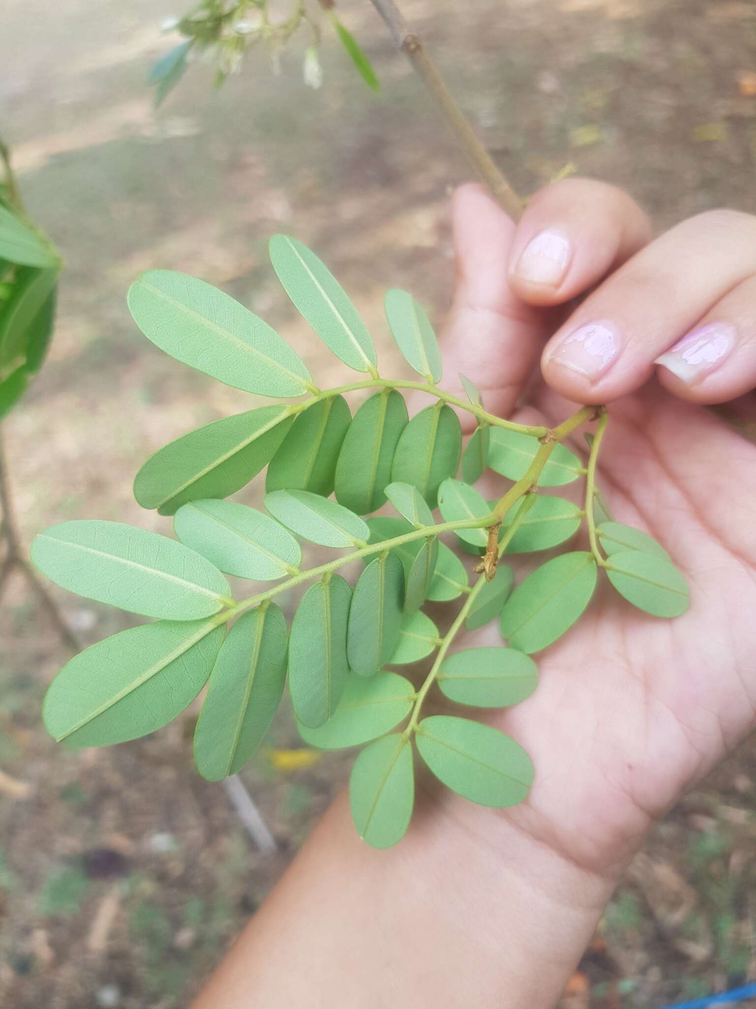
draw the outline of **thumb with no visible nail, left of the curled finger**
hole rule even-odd
[[[484,394],[486,409],[508,417],[538,359],[548,316],[523,303],[507,281],[507,255],[515,225],[477,185],[463,186],[453,200],[457,285],[444,334],[449,386],[465,393],[463,372]],[[463,430],[475,418],[461,418]]]

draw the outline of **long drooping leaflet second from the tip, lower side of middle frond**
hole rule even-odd
[[[195,730],[203,778],[240,771],[273,720],[286,680],[287,628],[270,603],[240,616],[223,643]]]

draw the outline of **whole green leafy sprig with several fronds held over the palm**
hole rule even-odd
[[[655,616],[683,612],[687,588],[658,544],[613,522],[600,501],[603,409],[584,407],[553,428],[526,426],[488,413],[468,379],[467,401],[445,391],[430,322],[401,291],[387,294],[386,318],[419,378],[384,377],[370,333],[326,265],[282,235],[270,256],[301,315],[361,377],[320,388],[278,333],[202,281],[151,270],[132,286],[137,325],[166,353],[235,388],[294,402],[215,421],[144,463],[135,496],[173,517],[177,541],[112,522],[67,522],[34,540],[34,563],[57,584],[156,621],[69,662],[43,719],[72,747],[133,740],[176,717],[209,681],[195,759],[219,780],[259,746],[288,672],[303,740],[365,746],[350,782],[353,817],[368,843],[386,848],[410,820],[415,748],[440,781],[485,805],[520,802],[532,782],[515,740],[470,718],[426,714],[434,687],[473,708],[524,700],[537,683],[532,656],[577,623],[601,572]],[[358,390],[368,397],[353,416],[345,397]],[[411,419],[408,390],[429,400]],[[477,420],[464,454],[453,408]],[[584,465],[563,442],[595,421]],[[226,500],[265,467],[265,511]],[[487,469],[508,484],[493,501],[474,485]],[[580,479],[584,508],[540,493]],[[386,502],[395,515],[375,516]],[[554,556],[515,585],[503,558],[565,544],[583,522],[590,550]],[[472,582],[455,543],[476,555]],[[307,544],[336,556],[305,563]],[[353,585],[340,572],[354,562],[363,570]],[[258,584],[235,599],[227,574]],[[274,599],[299,586],[307,587],[289,630]],[[460,598],[442,634],[423,607]],[[501,645],[453,651],[463,631],[492,622]],[[431,656],[419,686],[396,671]]]

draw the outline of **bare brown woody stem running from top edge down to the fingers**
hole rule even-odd
[[[444,78],[438,73],[437,67],[425,51],[422,42],[414,32],[409,30],[394,0],[372,0],[372,3],[385,21],[394,42],[412,64],[415,73],[452,127],[460,149],[499,204],[516,221],[522,213],[522,200],[476,136],[452,92],[447,87]]]

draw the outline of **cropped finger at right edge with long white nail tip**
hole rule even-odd
[[[727,403],[756,386],[756,276],[720,299],[656,365],[659,382],[691,403]]]

